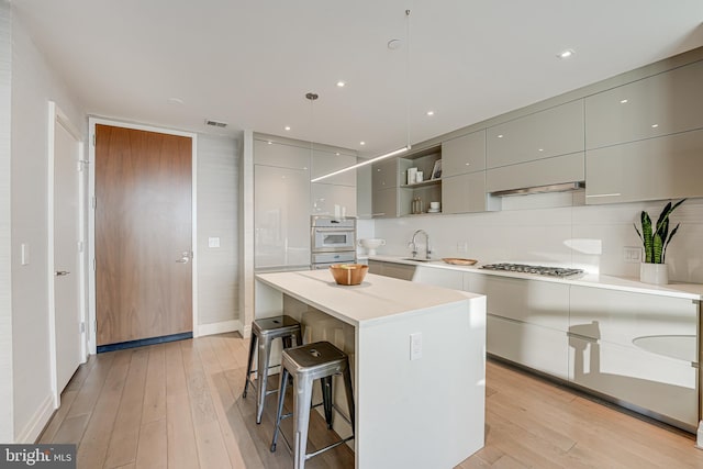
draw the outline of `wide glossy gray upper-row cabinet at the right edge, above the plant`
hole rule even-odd
[[[703,62],[585,98],[585,146],[703,129]]]

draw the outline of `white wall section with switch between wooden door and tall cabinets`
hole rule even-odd
[[[239,320],[238,167],[236,139],[198,135],[200,325]],[[209,237],[219,237],[220,247],[209,247]]]

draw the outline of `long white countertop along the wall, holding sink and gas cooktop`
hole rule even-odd
[[[380,260],[383,263],[405,264],[416,267],[432,267],[437,269],[459,270],[465,272],[483,273],[488,276],[512,277],[526,280],[549,281],[556,283],[576,284],[581,287],[604,288],[610,290],[629,291],[634,293],[658,294],[661,297],[683,298],[690,300],[703,300],[703,284],[700,283],[669,283],[665,286],[656,286],[643,283],[636,278],[583,275],[572,278],[558,278],[538,276],[534,273],[506,272],[501,270],[481,269],[480,265],[476,266],[456,266],[446,264],[442,259],[435,259],[428,263],[416,260],[404,260],[402,256],[369,256],[370,260]]]

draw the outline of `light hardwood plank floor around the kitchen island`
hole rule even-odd
[[[79,469],[292,467],[282,442],[269,451],[276,398],[260,425],[253,393],[242,398],[247,346],[223,334],[91,356],[40,443],[78,444]],[[493,361],[486,417],[486,447],[458,468],[703,468],[692,435]],[[309,450],[332,438],[313,418]],[[354,455],[338,447],[306,467],[353,468]]]

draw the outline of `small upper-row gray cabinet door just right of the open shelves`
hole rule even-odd
[[[442,143],[442,177],[465,175],[486,169],[486,131]]]

